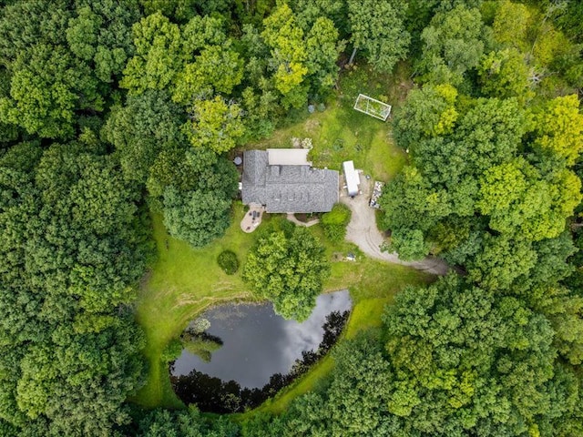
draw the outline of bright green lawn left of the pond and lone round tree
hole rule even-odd
[[[196,314],[213,303],[251,299],[240,273],[229,276],[216,262],[224,249],[233,250],[240,263],[245,259],[256,234],[240,230],[242,217],[243,208],[237,204],[225,236],[204,249],[192,249],[188,243],[169,237],[161,217],[153,216],[159,259],[138,296],[137,320],[146,331],[149,364],[148,383],[138,392],[138,403],[148,407],[181,406],[170,388],[168,369],[159,361],[161,352]]]

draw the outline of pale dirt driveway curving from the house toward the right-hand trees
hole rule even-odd
[[[399,259],[396,253],[381,251],[380,246],[383,244],[384,237],[376,228],[374,209],[368,205],[371,198],[373,180],[364,178],[362,172],[360,177],[360,188],[363,194],[350,198],[346,195],[346,189],[341,188],[340,201],[353,212],[353,217],[346,227],[346,239],[356,244],[366,255],[374,259],[410,266],[435,275],[445,275],[449,266],[443,259],[428,257],[420,261],[407,262]]]

